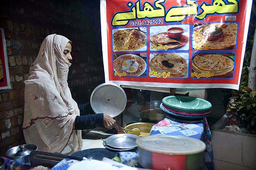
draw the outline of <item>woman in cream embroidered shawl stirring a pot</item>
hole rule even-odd
[[[30,67],[25,83],[23,132],[26,143],[38,150],[61,152],[72,141],[75,151],[83,146],[81,130],[116,127],[107,114],[80,115],[90,112],[90,104],[77,106],[68,88],[71,41],[61,35],[48,35]]]

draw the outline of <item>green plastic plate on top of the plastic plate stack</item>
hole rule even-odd
[[[204,99],[188,96],[164,97],[164,107],[183,112],[207,112],[212,109],[212,104]]]

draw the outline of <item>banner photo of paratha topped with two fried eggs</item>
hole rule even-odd
[[[141,76],[145,73],[147,64],[143,58],[135,54],[122,54],[117,58],[115,55],[117,54],[114,54],[114,72],[125,72],[126,76]]]

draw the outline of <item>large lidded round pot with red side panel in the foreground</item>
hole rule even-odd
[[[146,169],[203,170],[204,142],[185,136],[152,135],[136,140],[140,166]]]

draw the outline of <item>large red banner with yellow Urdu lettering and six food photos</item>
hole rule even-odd
[[[251,5],[252,0],[102,0],[106,82],[238,89]]]

